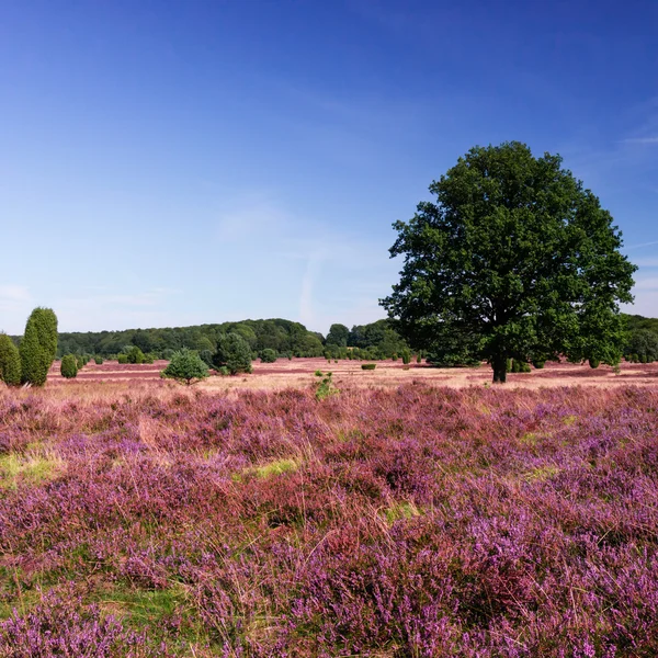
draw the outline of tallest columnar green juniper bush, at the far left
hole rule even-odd
[[[57,353],[57,316],[53,309],[37,307],[32,311],[19,353],[21,381],[43,386]]]

